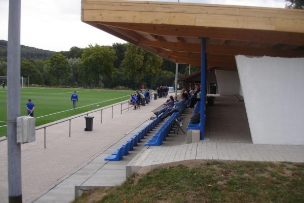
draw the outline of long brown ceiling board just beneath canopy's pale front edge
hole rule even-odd
[[[123,27],[125,29],[140,30],[161,36],[176,37],[205,37],[219,40],[238,40],[263,43],[282,43],[304,45],[304,33],[277,32],[251,29],[228,29],[215,27],[157,25],[157,24],[132,24],[102,22],[103,24]]]

